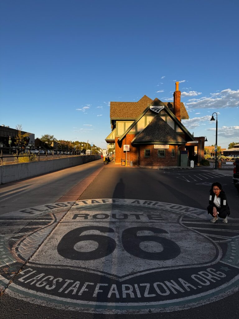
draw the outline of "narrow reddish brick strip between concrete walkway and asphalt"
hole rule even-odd
[[[68,202],[68,201],[75,201],[77,200],[81,194],[87,189],[87,187],[93,182],[93,180],[98,176],[98,174],[102,171],[104,166],[99,167],[97,170],[94,171],[90,176],[83,179],[79,182],[76,186],[69,190],[65,195],[59,198],[57,202]]]

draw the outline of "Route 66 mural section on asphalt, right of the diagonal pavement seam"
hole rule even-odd
[[[238,289],[237,223],[163,202],[77,201],[5,293],[108,314],[203,305]]]

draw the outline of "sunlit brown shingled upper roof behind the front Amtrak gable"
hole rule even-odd
[[[110,118],[135,120],[152,102],[153,100],[151,100],[147,95],[144,95],[138,102],[110,102]],[[162,103],[173,113],[173,102]],[[189,118],[183,102],[180,104],[180,115],[181,119]]]

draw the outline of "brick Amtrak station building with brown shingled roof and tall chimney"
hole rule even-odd
[[[144,95],[138,102],[110,103],[112,131],[105,141],[115,144],[115,164],[185,167],[204,157],[205,137],[193,137],[182,124],[189,116],[180,97],[176,82],[172,102]]]

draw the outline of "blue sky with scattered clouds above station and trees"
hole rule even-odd
[[[93,142],[110,101],[181,101],[194,136],[239,143],[237,0],[1,2],[1,123]],[[105,145],[106,146],[106,145]]]

